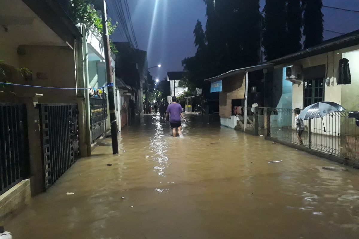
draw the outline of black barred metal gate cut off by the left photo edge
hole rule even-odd
[[[0,195],[28,176],[25,104],[0,103]]]

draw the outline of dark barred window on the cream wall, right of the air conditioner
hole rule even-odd
[[[324,80],[322,77],[304,80],[304,107],[324,101]]]

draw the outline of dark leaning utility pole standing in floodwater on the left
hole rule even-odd
[[[105,52],[106,78],[108,84],[107,89],[108,89],[108,106],[110,111],[110,122],[111,122],[112,153],[118,154],[115,94],[113,91],[110,41],[109,41],[108,29],[107,29],[106,2],[104,0],[101,2],[102,2],[101,15],[102,15],[103,46],[104,46],[103,48]]]

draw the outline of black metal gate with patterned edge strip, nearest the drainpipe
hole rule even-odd
[[[79,157],[78,108],[76,104],[38,104],[45,189]]]

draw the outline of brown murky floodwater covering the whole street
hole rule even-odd
[[[200,116],[172,138],[158,118],[124,129],[120,155],[99,146],[80,159],[5,228],[14,239],[358,238],[358,170],[322,169],[344,166]]]

